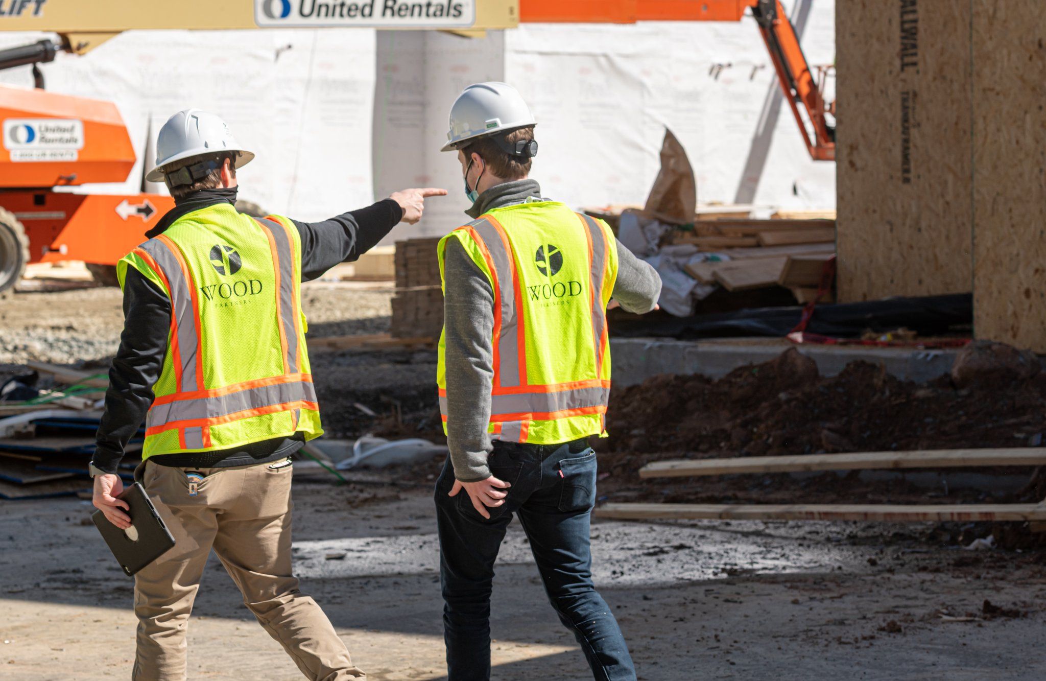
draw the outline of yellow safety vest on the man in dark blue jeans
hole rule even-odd
[[[536,445],[605,436],[606,311],[617,279],[610,227],[550,201],[495,208],[439,242],[440,276],[452,239],[494,291],[488,432],[496,439]],[[446,333],[437,368],[445,431]]]

